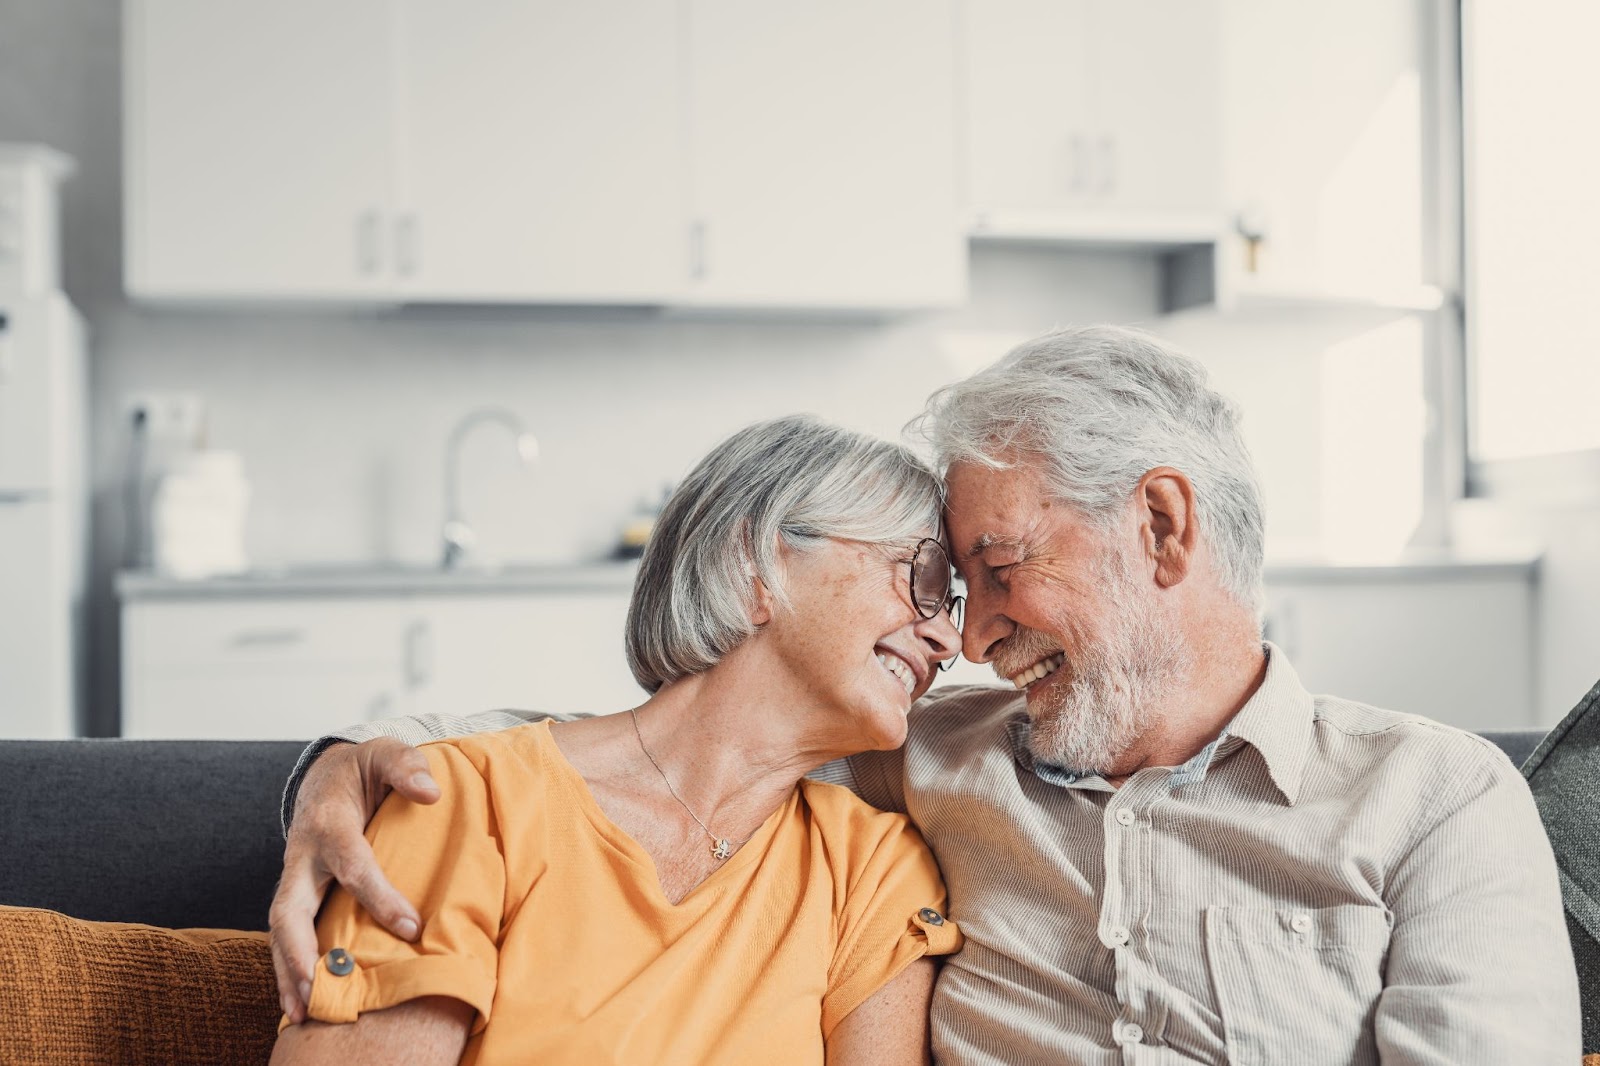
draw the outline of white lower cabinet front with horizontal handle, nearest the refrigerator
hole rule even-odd
[[[138,600],[122,615],[122,735],[310,739],[408,714],[398,600]]]

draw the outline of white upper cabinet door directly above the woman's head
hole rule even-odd
[[[949,0],[690,0],[691,299],[965,296]]]

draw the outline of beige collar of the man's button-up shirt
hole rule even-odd
[[[1301,685],[1299,674],[1290,666],[1288,658],[1272,643],[1266,643],[1267,675],[1261,688],[1245,701],[1238,714],[1222,727],[1210,744],[1202,747],[1189,762],[1176,767],[1168,778],[1168,787],[1203,781],[1211,760],[1218,755],[1224,741],[1227,751],[1235,751],[1242,744],[1254,747],[1267,763],[1272,784],[1277,786],[1283,799],[1293,807],[1299,795],[1301,778],[1306,771],[1306,759],[1310,752],[1312,720],[1315,703],[1306,687]],[[1069,770],[1056,763],[1034,759],[1029,749],[1029,733],[1032,731],[1027,711],[1021,711],[1006,720],[1006,736],[1011,741],[1011,754],[1029,773],[1042,781],[1061,787],[1112,791],[1112,786],[1096,773]]]

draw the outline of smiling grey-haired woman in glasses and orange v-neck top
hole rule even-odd
[[[806,771],[906,738],[955,655],[939,482],[811,418],[678,488],[627,619],[630,711],[427,746],[366,831],[414,943],[336,890],[274,1063],[910,1063],[960,946],[901,815]]]

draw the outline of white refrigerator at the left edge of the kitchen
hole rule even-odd
[[[0,738],[83,720],[85,328],[54,245],[67,173],[48,149],[0,146]]]

